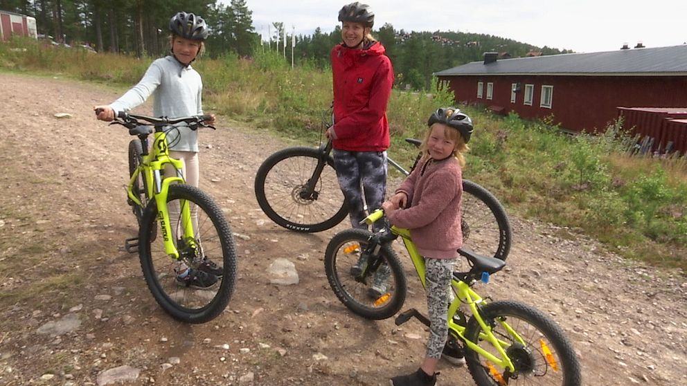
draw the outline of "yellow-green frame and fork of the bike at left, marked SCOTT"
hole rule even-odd
[[[141,147],[143,148],[143,154],[141,155],[143,159],[130,178],[129,185],[127,186],[127,196],[129,196],[136,205],[143,206],[143,203],[141,203],[138,197],[136,197],[136,194],[134,194],[136,179],[139,175],[143,175],[146,181],[145,187],[148,190],[147,195],[154,199],[157,204],[158,219],[162,228],[165,252],[175,259],[179,259],[179,251],[170,237],[170,235],[172,235],[172,226],[169,221],[170,216],[167,208],[167,195],[170,184],[186,183],[181,172],[184,168],[184,162],[170,156],[167,144],[167,134],[161,127],[155,128],[152,151],[148,151],[147,135],[139,136],[139,138],[141,139]],[[177,176],[164,176],[164,169],[167,164],[171,164],[175,167]],[[192,215],[188,205],[181,205],[181,219],[184,221],[184,224],[193,224],[191,218]],[[184,228],[184,239],[193,241],[195,238],[193,226],[184,226],[182,228]]]

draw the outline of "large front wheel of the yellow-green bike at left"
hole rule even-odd
[[[191,185],[170,185],[167,206],[172,235],[163,232],[154,200],[143,214],[139,231],[143,277],[155,300],[173,318],[187,323],[208,322],[224,311],[235,286],[236,254],[229,223],[220,207]],[[190,221],[184,222],[182,213],[186,208],[190,210]],[[184,229],[188,227],[193,227],[192,239],[184,237]],[[179,261],[166,254],[163,241],[166,237],[172,237],[175,242]],[[203,270],[202,266],[211,262],[219,266],[211,274],[211,286],[199,289],[200,286],[188,286],[177,277],[185,266]]]

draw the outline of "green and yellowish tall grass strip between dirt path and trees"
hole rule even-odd
[[[26,39],[0,44],[0,68],[124,86],[137,82],[153,59],[46,48]],[[202,57],[193,66],[203,75],[207,111],[303,143],[320,137],[332,100],[330,71],[291,68],[277,53]],[[411,163],[416,151],[402,139],[422,138],[431,111],[452,104],[453,96],[439,87],[393,90],[393,158]],[[476,127],[465,176],[488,187],[511,213],[578,228],[626,257],[687,268],[687,158],[628,156],[621,122],[603,135],[569,136],[513,113],[461,109]]]

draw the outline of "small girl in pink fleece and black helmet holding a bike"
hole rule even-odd
[[[393,197],[382,203],[389,221],[409,229],[413,243],[425,257],[431,321],[427,354],[420,369],[391,378],[392,386],[433,386],[442,353],[454,364],[465,362],[461,351],[446,344],[446,320],[453,264],[463,245],[463,153],[468,149],[472,120],[460,110],[447,107],[434,111],[427,125],[427,136],[420,147],[425,155]]]

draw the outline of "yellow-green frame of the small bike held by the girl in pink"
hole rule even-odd
[[[384,211],[375,210],[375,212],[366,217],[365,222],[368,225],[371,225],[372,223],[375,223],[375,221],[382,219],[382,217],[384,217]],[[425,288],[425,291],[427,291],[427,284],[425,282],[425,258],[422,257],[422,255],[420,255],[420,252],[418,252],[418,248],[413,243],[413,240],[410,236],[410,230],[398,228],[397,226],[391,226],[391,232],[394,235],[398,235],[402,238],[403,244],[406,250],[408,251],[408,254],[410,255],[411,261],[413,262],[413,266],[415,267],[415,270],[418,273],[418,277],[420,278],[420,282],[422,283],[422,288]],[[483,297],[476,293],[470,287],[470,284],[467,284],[463,280],[458,280],[456,279],[456,277],[452,277],[451,286],[456,293],[456,297],[454,297],[454,300],[453,302],[451,302],[448,309],[447,323],[449,327],[449,333],[455,333],[456,337],[461,338],[461,340],[465,342],[467,347],[470,347],[472,351],[475,351],[487,360],[490,360],[490,362],[493,362],[494,365],[497,365],[503,369],[507,369],[508,371],[515,371],[515,366],[513,365],[510,358],[508,358],[508,354],[506,353],[506,349],[508,348],[508,342],[504,342],[503,340],[497,339],[496,336],[494,336],[494,334],[492,333],[492,329],[489,326],[489,324],[485,322],[485,320],[482,318],[479,306],[481,304],[486,304]],[[456,313],[461,312],[458,310],[458,307],[461,305],[461,302],[467,304],[467,306],[470,308],[470,312],[472,313],[473,317],[479,323],[483,331],[479,334],[479,338],[481,340],[487,340],[488,342],[490,342],[492,346],[497,350],[501,358],[497,358],[497,356],[492,355],[492,353],[485,351],[484,349],[479,347],[479,345],[474,344],[472,341],[465,338],[466,327],[454,322],[453,318],[454,315],[456,315]],[[514,329],[512,329],[512,327],[508,325],[508,323],[506,323],[503,320],[500,320],[499,323],[503,325],[504,329],[510,331],[510,333],[512,333],[512,335],[515,336],[520,343],[525,344],[525,341],[515,332]]]

